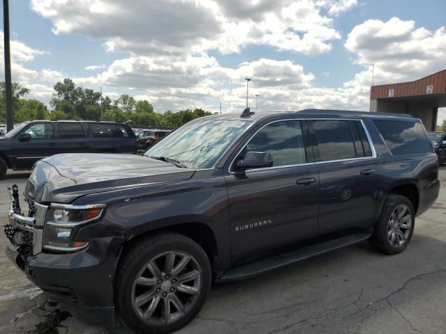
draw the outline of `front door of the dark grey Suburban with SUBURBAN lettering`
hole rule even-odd
[[[312,147],[305,147],[306,131],[305,121],[300,120],[264,125],[237,157],[250,151],[270,152],[273,166],[244,173],[231,166],[225,176],[233,264],[317,234],[318,172]]]

